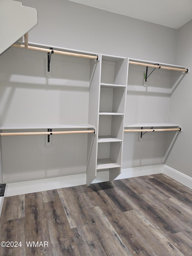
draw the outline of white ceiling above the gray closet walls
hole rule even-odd
[[[192,19],[192,0],[69,0],[179,29]]]

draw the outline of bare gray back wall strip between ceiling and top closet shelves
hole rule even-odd
[[[68,0],[22,0],[22,3],[38,13],[38,24],[29,32],[29,42],[174,62],[176,29]]]

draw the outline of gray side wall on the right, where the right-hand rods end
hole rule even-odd
[[[192,20],[178,29],[175,64],[192,67]],[[169,122],[183,126],[182,133],[175,138],[167,136],[165,164],[192,177],[192,73],[173,76]]]

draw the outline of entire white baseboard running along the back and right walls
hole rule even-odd
[[[153,175],[158,173],[164,173],[170,178],[175,179],[176,181],[192,189],[191,177],[164,164],[122,169],[122,173],[116,179],[127,179],[132,177]],[[104,182],[108,180],[109,180],[109,170],[98,172],[97,177],[94,179],[92,183]],[[34,193],[39,191],[45,191],[45,190],[51,190],[51,189],[57,189],[57,188],[66,188],[66,187],[85,185],[85,184],[86,184],[86,173],[49,178],[49,179],[32,180],[32,181],[26,181],[26,182],[8,183],[5,188],[4,196],[8,197],[8,196],[28,194],[28,193]],[[1,210],[1,201],[3,202],[3,200],[0,197],[0,210]]]

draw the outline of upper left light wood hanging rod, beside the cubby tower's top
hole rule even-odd
[[[25,45],[23,44],[13,44],[11,45],[12,47],[16,48],[22,48],[25,49]],[[34,46],[28,46],[28,50],[35,50],[35,51],[40,51],[40,52],[46,52],[46,53],[51,53],[52,50],[50,49],[45,49],[45,48],[40,48],[40,47],[34,47]],[[62,52],[62,51],[57,51],[53,50],[54,53],[56,54],[61,54],[61,55],[69,55],[69,56],[75,56],[75,57],[81,57],[81,58],[88,58],[88,59],[97,59],[98,56],[92,56],[92,55],[85,55],[85,54],[79,54],[79,53],[68,53],[68,52]]]

